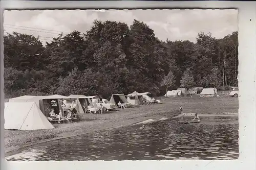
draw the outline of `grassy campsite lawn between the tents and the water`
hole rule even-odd
[[[99,130],[131,125],[149,118],[174,117],[183,106],[184,113],[225,114],[238,113],[238,98],[198,96],[159,98],[163,104],[116,109],[104,114],[84,114],[82,120],[72,124],[54,124],[55,129],[18,131],[5,130],[6,152],[38,142],[46,142]]]

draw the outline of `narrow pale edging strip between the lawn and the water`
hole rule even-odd
[[[185,113],[185,116],[194,116],[194,115],[195,115],[195,113]],[[201,115],[201,116],[202,115],[204,115],[204,116],[235,116],[235,115],[238,115],[238,113],[198,114],[198,115]],[[179,116],[180,115],[177,115],[177,116],[174,116],[174,117],[166,117],[166,118],[172,119],[172,118],[178,118]],[[154,118],[156,118],[156,117],[155,116],[150,116],[150,117],[147,117],[145,120],[154,119]],[[92,133],[95,133],[95,132],[108,131],[108,130],[117,129],[117,128],[120,128],[120,127],[127,127],[127,126],[131,126],[131,125],[138,125],[139,123],[144,122],[145,120],[137,121],[135,123],[125,124],[125,125],[121,125],[121,126],[119,125],[119,126],[115,126],[115,127],[111,127],[111,128],[100,129],[100,130],[91,131],[91,132],[84,132],[84,133],[78,133],[78,134],[75,134],[75,135],[69,135],[69,136],[62,136],[62,137],[55,137],[55,138],[51,138],[51,139],[39,140],[39,141],[37,141],[35,143],[30,143],[30,144],[23,145],[22,147],[11,148],[11,149],[5,151],[5,157],[12,155],[11,154],[12,152],[18,151],[18,150],[23,149],[23,148],[31,147],[32,145],[36,145],[36,144],[40,144],[40,143],[46,143],[46,142],[54,141],[54,140],[61,140],[61,139],[66,139],[66,138],[72,138],[72,137],[76,137],[76,136],[80,136],[80,135],[92,134]],[[160,121],[160,119],[154,120],[154,122],[158,122],[158,121]],[[150,123],[152,123],[152,122],[150,122]]]

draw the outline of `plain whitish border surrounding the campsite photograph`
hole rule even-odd
[[[255,169],[256,2],[227,1],[1,1],[0,102],[1,169]],[[5,160],[4,149],[4,10],[44,9],[238,9],[239,159],[161,161],[31,161]]]

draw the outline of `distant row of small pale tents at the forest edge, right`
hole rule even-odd
[[[201,91],[199,95],[203,96],[217,96],[217,88],[193,88],[189,89],[188,91],[185,88],[178,88],[177,90],[167,91],[164,96],[186,96],[188,93],[195,92],[196,94],[198,91]]]

